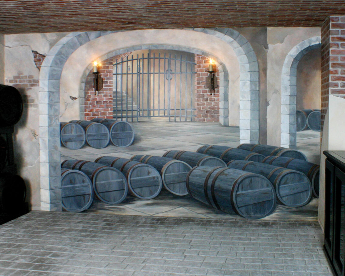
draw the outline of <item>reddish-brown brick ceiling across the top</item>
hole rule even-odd
[[[0,0],[0,33],[320,27],[345,0]]]

